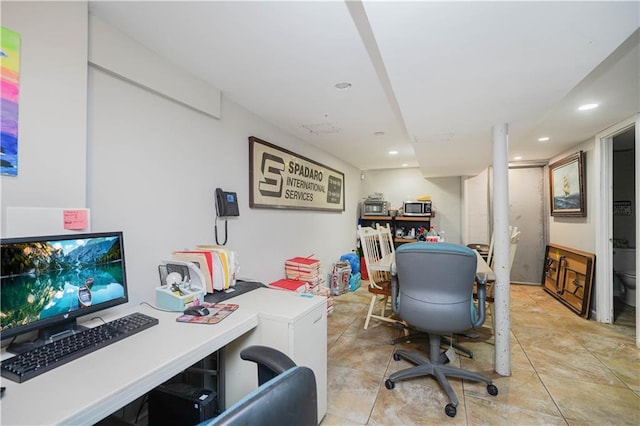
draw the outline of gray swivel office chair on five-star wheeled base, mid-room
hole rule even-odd
[[[445,413],[454,417],[458,398],[447,377],[487,384],[487,392],[497,395],[498,388],[489,377],[444,365],[440,353],[442,335],[451,335],[484,323],[485,287],[478,285],[478,307],[473,303],[476,255],[464,246],[450,243],[409,243],[396,250],[396,274],[392,278],[391,305],[409,326],[429,334],[429,358],[420,353],[398,350],[393,359],[415,364],[389,376],[387,389],[395,382],[420,376],[434,376],[447,393]]]

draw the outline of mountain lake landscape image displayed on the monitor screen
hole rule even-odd
[[[3,244],[1,330],[125,296],[117,236]]]

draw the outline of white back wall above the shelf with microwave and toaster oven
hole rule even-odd
[[[425,179],[419,168],[367,170],[362,176],[361,197],[382,192],[392,208],[401,208],[403,201],[431,195],[435,210],[431,224],[438,232],[445,231],[447,241],[461,243],[462,178]]]

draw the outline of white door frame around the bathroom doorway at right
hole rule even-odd
[[[640,241],[640,114],[615,124],[595,139],[596,320],[613,322],[613,137],[635,125],[636,241]],[[636,262],[636,275],[640,262]],[[636,346],[640,348],[640,292],[636,293]]]

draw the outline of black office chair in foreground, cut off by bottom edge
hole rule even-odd
[[[258,364],[259,387],[218,417],[201,426],[280,426],[318,424],[318,397],[313,370],[266,346],[240,353]]]

